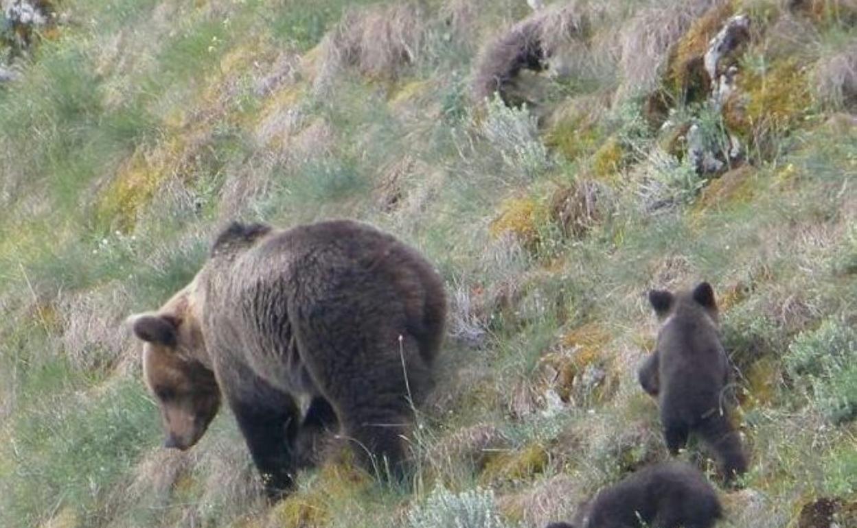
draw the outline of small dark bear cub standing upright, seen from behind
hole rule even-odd
[[[714,290],[708,282],[676,294],[653,290],[649,301],[661,329],[655,353],[638,378],[658,399],[667,448],[678,453],[695,431],[715,452],[723,477],[731,480],[746,472],[747,462],[723,407],[729,365],[718,336]]]

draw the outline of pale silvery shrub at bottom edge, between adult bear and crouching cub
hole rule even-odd
[[[497,514],[494,492],[470,489],[453,493],[437,487],[428,500],[408,513],[411,528],[505,528]]]

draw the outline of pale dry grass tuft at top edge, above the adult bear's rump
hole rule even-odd
[[[375,79],[399,77],[423,51],[426,15],[418,2],[350,11],[321,43],[316,88],[343,68]]]

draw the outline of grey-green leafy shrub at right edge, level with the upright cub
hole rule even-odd
[[[833,320],[794,338],[785,357],[789,374],[812,390],[812,405],[834,423],[857,415],[857,331]]]

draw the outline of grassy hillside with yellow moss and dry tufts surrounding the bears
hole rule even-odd
[[[569,519],[666,458],[635,374],[644,294],[708,280],[752,458],[722,525],[820,528],[830,507],[857,526],[853,0],[44,4],[30,44],[0,28],[0,525]],[[700,65],[732,15],[749,39],[715,104]],[[479,101],[512,27],[548,68],[503,86],[522,106]],[[690,137],[722,166],[698,170]],[[334,453],[271,507],[226,411],[189,452],[159,447],[123,319],[238,217],[356,217],[439,267],[413,490]]]

